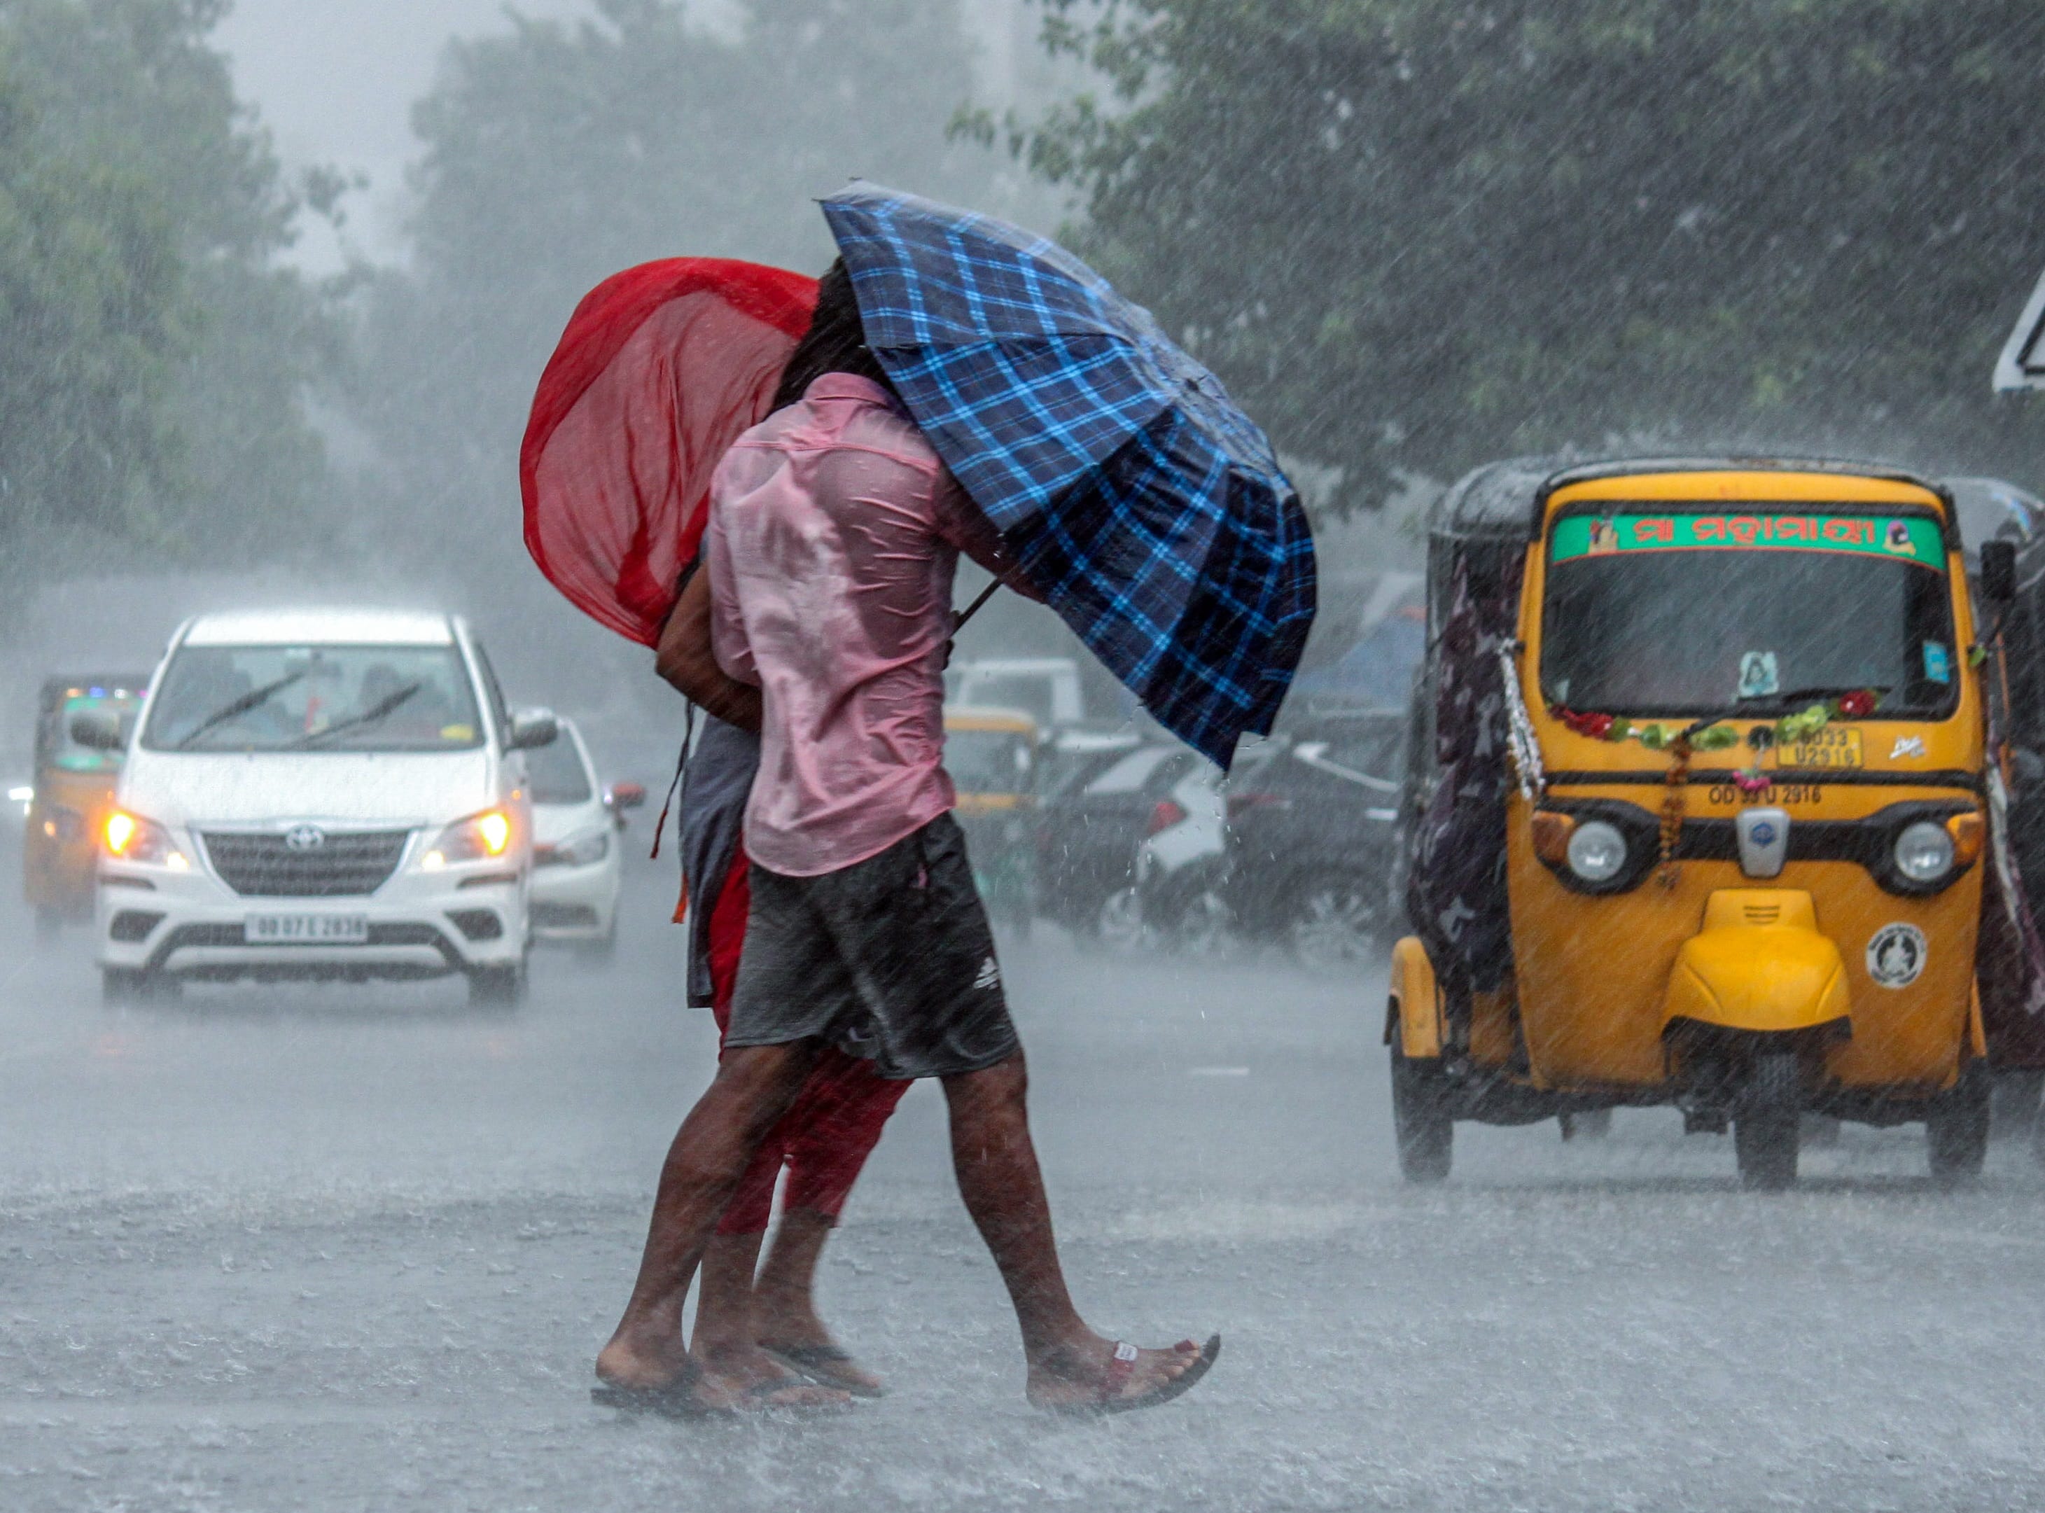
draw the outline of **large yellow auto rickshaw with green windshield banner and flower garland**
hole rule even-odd
[[[1429,521],[1384,1039],[1456,1120],[1675,1104],[1796,1180],[1806,1112],[1982,1167],[1982,632],[1951,497],[1834,462],[1509,462]],[[1984,603],[2014,556],[1984,544]],[[1992,640],[1992,634],[1988,636]],[[1564,1125],[1566,1131],[1566,1125]]]

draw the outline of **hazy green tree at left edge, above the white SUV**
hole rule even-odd
[[[335,325],[276,254],[331,186],[294,190],[235,100],[209,45],[225,8],[0,0],[0,282],[20,290],[0,530],[35,530],[57,558],[125,542],[233,562],[319,530],[307,391],[337,358]]]

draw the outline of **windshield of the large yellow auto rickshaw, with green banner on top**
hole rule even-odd
[[[1945,540],[1926,515],[1558,519],[1542,693],[1601,714],[1783,714],[1873,689],[1937,716],[1959,689]]]

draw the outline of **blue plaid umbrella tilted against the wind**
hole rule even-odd
[[[1313,536],[1270,442],[1147,311],[1053,241],[875,184],[824,200],[867,343],[1059,617],[1223,767],[1313,624]]]

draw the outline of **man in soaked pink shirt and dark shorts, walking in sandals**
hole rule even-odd
[[[726,1053],[669,1153],[638,1286],[597,1358],[599,1401],[708,1407],[671,1321],[753,1149],[836,1045],[883,1078],[943,1080],[959,1192],[1008,1284],[1031,1403],[1164,1403],[1207,1372],[1219,1337],[1135,1349],[1072,1304],[943,767],[957,554],[1035,593],[896,403],[843,266],[789,370],[804,362],[818,376],[802,403],[742,435],[712,487],[716,656],[763,695],[753,906]]]

